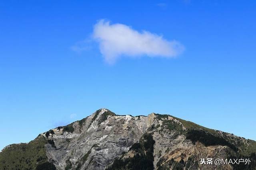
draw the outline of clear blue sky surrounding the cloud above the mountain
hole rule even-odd
[[[1,1],[0,149],[103,107],[256,140],[255,8],[253,0]],[[102,19],[184,50],[126,51],[108,62],[92,38]]]

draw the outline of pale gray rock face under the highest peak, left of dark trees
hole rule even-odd
[[[84,120],[72,123],[72,133],[64,131],[63,127],[52,129],[54,134],[48,139],[54,141],[56,148],[46,144],[47,157],[58,169],[65,169],[68,160],[72,166],[81,169],[105,169],[139,141],[153,124],[154,117],[154,114],[148,117],[114,115],[108,109],[100,109]],[[44,133],[41,135],[45,136]]]

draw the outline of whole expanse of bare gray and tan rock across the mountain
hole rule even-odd
[[[139,142],[144,133],[151,133],[155,141],[154,169],[172,168],[170,162],[181,160],[185,163],[190,162],[189,165],[186,164],[186,169],[232,169],[230,165],[200,165],[200,158],[227,158],[227,153],[233,153],[234,150],[225,145],[205,146],[198,141],[193,143],[184,133],[188,131],[190,125],[172,116],[160,117],[152,113],[148,116],[132,117],[115,115],[108,109],[100,109],[69,126],[74,128],[73,132],[65,131],[65,127],[52,129],[54,134],[48,139],[54,141],[56,148],[46,144],[48,159],[60,170],[65,168],[103,170],[110,167],[115,158],[132,158],[136,153],[129,149],[134,143]],[[199,125],[195,128],[201,129]],[[238,149],[240,146],[248,146],[246,139],[210,130],[212,131],[210,133],[225,136],[233,143],[238,141],[240,143],[239,146],[236,145]],[[45,136],[45,133],[42,135]]]

